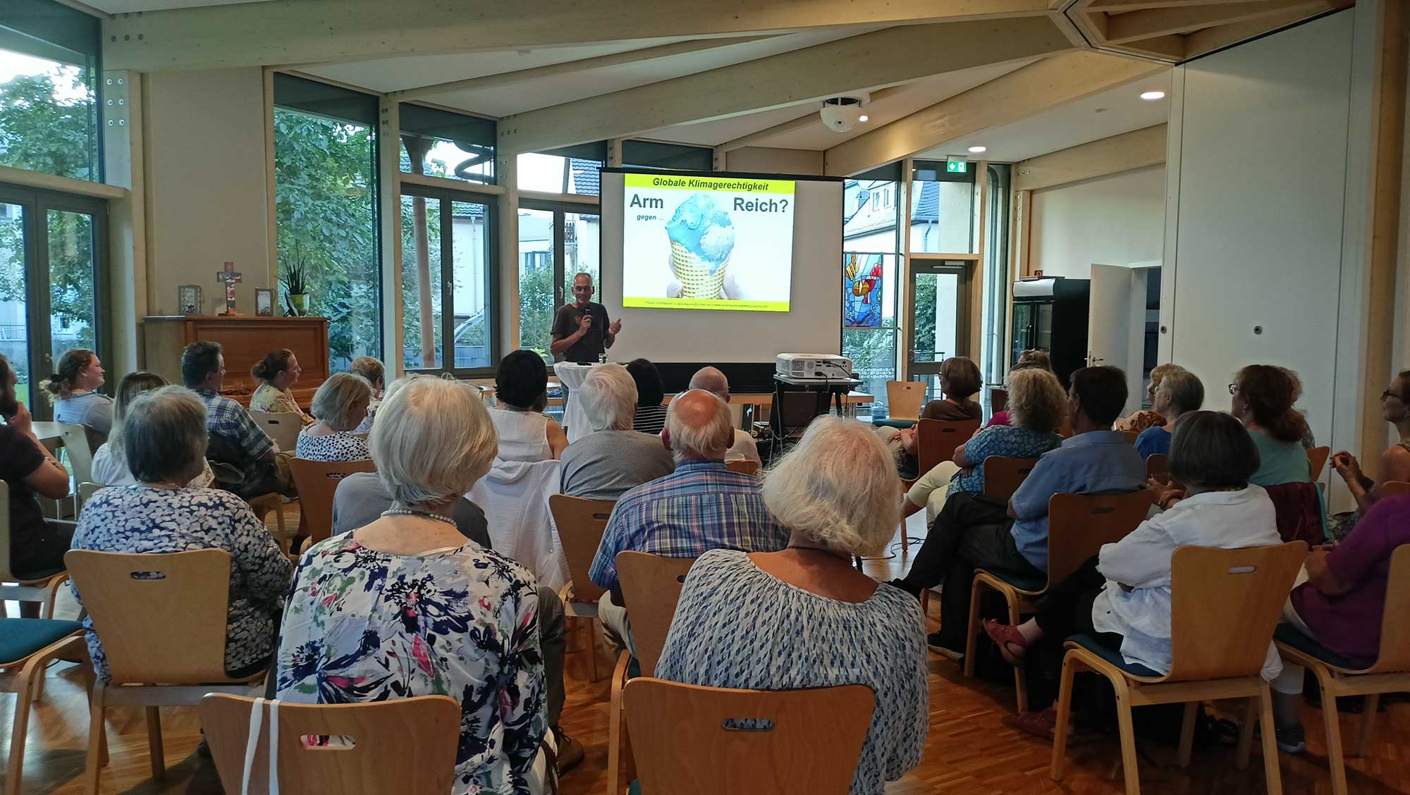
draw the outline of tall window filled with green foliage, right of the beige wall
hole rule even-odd
[[[329,366],[382,351],[376,97],[275,75],[279,302],[303,276],[305,310],[329,319]]]

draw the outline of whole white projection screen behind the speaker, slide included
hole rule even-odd
[[[685,185],[653,185],[656,178]],[[629,179],[632,187],[627,187]],[[691,180],[697,180],[694,187]],[[705,187],[715,180],[726,185]],[[744,189],[740,183],[764,183],[787,192]],[[839,178],[798,173],[602,169],[602,283],[596,300],[606,307],[608,317],[622,320],[622,333],[608,357],[616,362],[646,357],[657,362],[773,364],[780,352],[842,352],[843,186]],[[721,223],[709,224],[713,213],[691,210],[699,207],[692,203],[681,213],[688,220],[677,226],[689,234],[674,242],[681,242],[694,259],[722,265],[715,269],[716,273],[723,271],[716,288],[719,293],[708,299],[684,297],[670,289],[671,282],[680,285],[680,292],[685,285],[675,276],[675,247],[667,227],[681,204],[697,195],[721,210],[715,216]],[[633,196],[661,203],[630,207]],[[754,202],[753,209],[736,211],[736,197],[744,200],[744,207]],[[778,203],[777,213],[760,211],[768,200]],[[787,210],[783,202],[788,202]],[[728,228],[733,230],[728,257],[721,242],[730,235],[719,230],[725,214]],[[656,216],[656,220],[637,221],[636,216]],[[754,226],[760,218],[770,223]],[[766,249],[760,247],[770,247],[774,254],[761,255]],[[704,252],[704,258],[692,248]],[[857,266],[860,271],[860,261]],[[860,272],[857,279],[866,281]],[[877,295],[880,283],[871,288],[871,295]],[[761,289],[774,289],[777,295],[764,299],[753,292]],[[854,290],[856,285],[847,285],[849,297]],[[671,299],[702,302],[708,309],[728,312],[681,312],[680,303]],[[777,312],[757,306],[767,300],[785,303]]]

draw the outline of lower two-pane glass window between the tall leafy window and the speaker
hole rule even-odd
[[[460,192],[407,185],[402,196],[402,364],[484,375],[498,361],[494,213]]]

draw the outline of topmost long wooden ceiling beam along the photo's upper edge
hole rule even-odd
[[[1046,11],[1046,0],[271,0],[117,14],[103,21],[103,68],[321,63]]]

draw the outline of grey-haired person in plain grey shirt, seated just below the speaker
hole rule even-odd
[[[618,364],[592,368],[574,392],[592,433],[563,451],[560,492],[584,499],[618,499],[622,492],[670,475],[675,468],[658,437],[632,430],[636,381]]]

